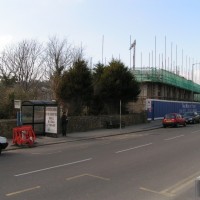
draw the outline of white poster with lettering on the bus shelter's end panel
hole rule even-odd
[[[57,133],[57,107],[46,107],[46,121],[45,121],[45,132],[46,133]]]

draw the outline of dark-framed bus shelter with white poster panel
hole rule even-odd
[[[55,101],[29,100],[21,104],[22,125],[31,125],[36,135],[57,137],[59,109]]]

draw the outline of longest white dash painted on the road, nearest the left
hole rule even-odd
[[[69,166],[69,165],[74,165],[74,164],[78,164],[78,163],[82,163],[82,162],[87,162],[87,161],[90,161],[90,160],[92,160],[92,158],[87,158],[87,159],[84,159],[84,160],[78,160],[78,161],[71,162],[71,163],[65,163],[65,164],[62,164],[62,165],[56,165],[56,166],[47,167],[47,168],[43,168],[43,169],[38,169],[38,170],[30,171],[30,172],[16,174],[14,176],[18,177],[18,176],[34,174],[34,173],[38,173],[38,172],[42,172],[42,171],[47,171],[47,170],[56,169],[56,168],[60,168],[60,167],[65,167],[65,166]]]

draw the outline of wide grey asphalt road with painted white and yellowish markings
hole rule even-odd
[[[200,124],[4,152],[0,199],[194,200],[199,153]]]

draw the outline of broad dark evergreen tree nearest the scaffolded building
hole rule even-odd
[[[118,112],[120,100],[125,105],[128,101],[136,101],[140,94],[134,75],[120,60],[114,59],[103,70],[96,87],[96,95],[109,106],[110,112]]]

